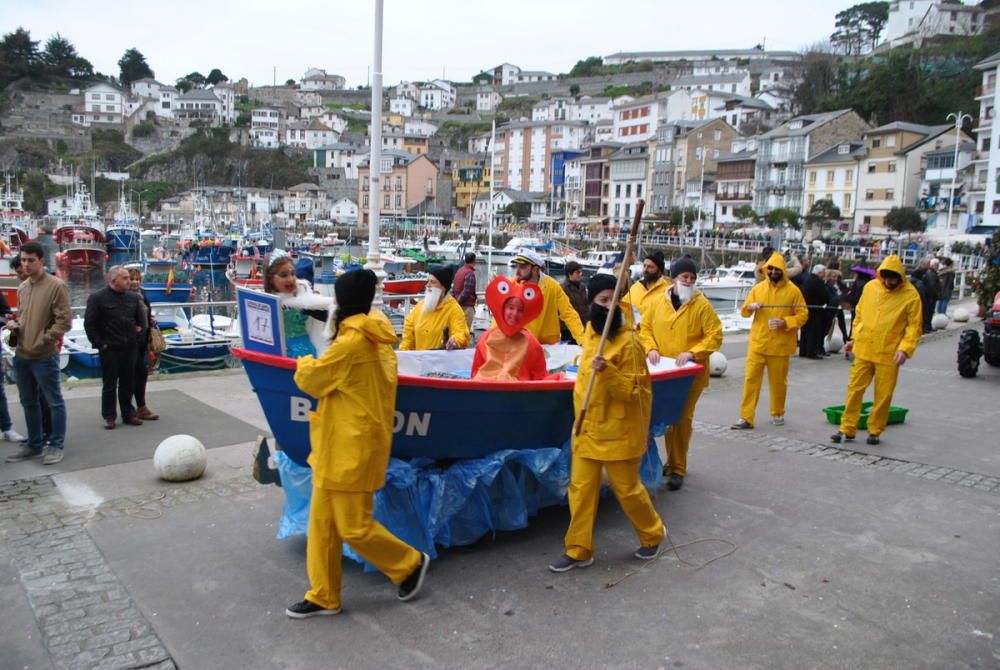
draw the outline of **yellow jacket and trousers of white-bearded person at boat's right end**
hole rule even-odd
[[[656,350],[661,356],[676,358],[689,351],[695,361],[705,366],[705,371],[691,385],[680,420],[670,426],[665,438],[667,472],[683,477],[687,473],[687,452],[694,432],[694,409],[708,388],[708,357],[722,347],[722,322],[701,291],[675,310],[668,289],[643,318],[640,337],[647,353]]]

